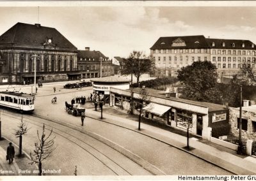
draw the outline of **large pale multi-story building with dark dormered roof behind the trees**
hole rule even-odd
[[[156,76],[177,76],[177,70],[194,61],[211,61],[219,76],[231,77],[243,64],[255,67],[256,47],[249,40],[225,40],[199,36],[160,37],[150,48]]]

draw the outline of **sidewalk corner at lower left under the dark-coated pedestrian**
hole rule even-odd
[[[13,163],[9,164],[9,161],[6,161],[6,148],[9,142],[4,138],[0,140],[0,176],[37,175],[33,173],[33,170],[37,170],[37,168],[35,165],[29,164],[28,156],[17,157],[19,148],[15,144],[13,144],[15,148]],[[31,173],[28,173],[28,171],[31,171]]]

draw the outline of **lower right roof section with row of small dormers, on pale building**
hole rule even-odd
[[[206,41],[211,48],[220,48],[220,49],[244,49],[244,50],[256,50],[256,45],[249,40],[227,40],[227,39],[216,39],[216,38],[206,38]],[[214,42],[215,46],[212,47]],[[225,43],[225,47],[223,47]],[[234,47],[233,47],[234,43]],[[244,47],[242,46],[244,43]],[[252,47],[254,45],[254,48]]]

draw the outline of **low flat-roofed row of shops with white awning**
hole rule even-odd
[[[220,124],[228,124],[228,108],[213,103],[166,97],[166,92],[147,89],[150,103],[143,108],[145,119],[163,122],[166,126],[188,129],[192,134],[209,140]],[[131,95],[134,105],[141,101],[140,88],[123,90],[110,87],[110,106],[130,109]],[[134,106],[136,107],[136,106]],[[139,113],[134,110],[134,113]]]

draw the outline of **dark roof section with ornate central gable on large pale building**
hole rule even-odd
[[[173,41],[184,41],[186,46],[172,47]],[[150,49],[209,48],[204,35],[160,37]]]

